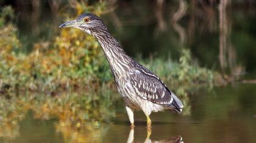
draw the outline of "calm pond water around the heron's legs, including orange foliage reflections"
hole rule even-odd
[[[142,112],[136,113],[137,126],[134,130],[129,130],[123,104],[108,108],[102,103],[96,106],[81,101],[80,108],[71,106],[71,114],[67,104],[80,101],[82,97],[73,95],[69,99],[70,95],[63,95],[49,98],[46,100],[49,104],[46,104],[40,96],[12,100],[0,96],[0,142],[182,142],[182,138],[184,142],[255,142],[255,90],[255,85],[244,84],[236,88],[215,88],[215,93],[198,91],[197,95],[190,96],[190,115],[174,115],[169,112],[153,114],[152,134],[151,130],[147,131],[146,122],[142,122]],[[34,97],[37,102],[32,104],[29,97]],[[101,99],[110,102],[108,99]],[[57,100],[58,104],[53,104],[52,100]],[[122,103],[122,100],[118,102]],[[99,105],[105,106],[105,109],[101,107],[102,111],[98,111],[99,108],[88,110],[88,113],[101,114],[116,110],[115,120],[112,118],[105,123],[88,120],[87,108]],[[26,108],[34,110],[27,112]],[[109,118],[106,114],[104,116]],[[98,116],[92,117],[97,119]]]

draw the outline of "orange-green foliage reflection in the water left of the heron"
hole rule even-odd
[[[62,92],[55,97],[44,93],[22,93],[19,96],[11,95],[10,99],[0,95],[0,142],[1,139],[25,141],[44,136],[51,140],[55,138],[51,133],[53,128],[54,133],[63,135],[65,141],[100,141],[98,135],[104,135],[107,128],[94,127],[115,115],[112,102],[118,96],[108,93],[104,92],[101,96],[101,93],[92,91]],[[54,118],[58,121],[54,121]],[[41,128],[38,129],[38,125]]]

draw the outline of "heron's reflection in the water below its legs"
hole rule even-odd
[[[149,142],[158,142],[158,143],[183,143],[182,141],[182,137],[181,136],[172,136],[169,139],[162,139],[162,140],[158,140],[158,141],[152,141],[150,139],[151,136],[151,128],[147,129],[147,137],[144,141],[144,143],[149,143]],[[134,128],[130,129],[130,133],[127,139],[127,143],[132,143],[134,139]]]

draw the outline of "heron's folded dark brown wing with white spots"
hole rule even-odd
[[[138,96],[156,104],[166,106],[175,104],[177,108],[183,107],[182,102],[154,73],[137,62],[132,62],[132,66],[135,68],[135,72],[130,77],[132,87]]]

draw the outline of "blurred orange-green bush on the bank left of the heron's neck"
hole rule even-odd
[[[101,15],[105,3],[90,7],[82,2],[72,2],[75,18],[84,11]],[[90,82],[111,79],[104,54],[96,39],[73,28],[62,28],[52,41],[34,44],[34,50],[26,55],[15,53],[19,47],[16,27],[7,18],[13,18],[12,8],[2,9],[1,15],[1,87],[29,87],[32,90],[54,91],[59,87],[83,87]],[[69,14],[70,15],[70,14]]]

